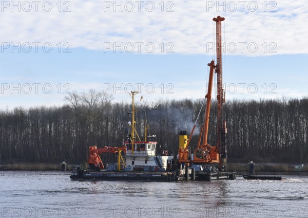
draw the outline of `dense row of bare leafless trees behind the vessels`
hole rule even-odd
[[[137,98],[137,97],[136,97]],[[140,98],[140,97],[139,97]],[[111,95],[90,90],[65,97],[61,107],[16,107],[0,111],[0,164],[15,162],[80,163],[87,159],[89,146],[123,146],[130,131],[131,103],[113,102]],[[178,154],[181,130],[188,134],[204,99],[136,99],[137,131],[144,137],[156,135],[158,153]],[[202,107],[190,142],[197,147]],[[211,103],[208,143],[216,142],[217,103]],[[308,98],[229,100],[223,107],[227,123],[228,161],[308,162]],[[114,154],[106,154],[104,162]]]

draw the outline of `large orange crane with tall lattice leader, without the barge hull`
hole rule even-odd
[[[185,134],[180,134],[180,145],[179,145],[179,162],[180,163],[218,163],[218,170],[223,171],[223,163],[226,162],[226,122],[222,121],[222,104],[225,102],[225,93],[222,88],[222,53],[221,53],[221,22],[224,21],[224,17],[218,16],[214,17],[213,21],[216,22],[216,48],[217,48],[217,65],[215,61],[212,60],[208,66],[209,69],[209,79],[208,79],[208,89],[206,98],[206,110],[204,117],[204,124],[201,127],[199,141],[197,149],[194,151],[194,157],[188,159],[188,145],[191,140],[191,136],[194,133],[196,128],[196,123],[194,128],[190,133],[189,139]],[[210,146],[207,143],[207,134],[208,134],[208,123],[209,123],[209,112],[210,112],[210,103],[211,103],[211,90],[214,78],[214,69],[217,74],[217,143],[216,146]],[[203,106],[203,105],[202,105]],[[202,109],[202,107],[201,107]],[[200,112],[201,112],[200,109]],[[200,115],[199,112],[199,115]],[[197,117],[197,120],[199,118]],[[202,137],[203,136],[203,137]],[[186,138],[185,138],[186,137]],[[202,140],[202,141],[201,141]]]

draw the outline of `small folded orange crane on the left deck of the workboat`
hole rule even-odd
[[[97,168],[97,169],[104,169],[104,165],[102,162],[102,159],[100,157],[100,154],[102,153],[118,153],[118,170],[121,168],[121,160],[125,166],[125,162],[123,160],[123,157],[121,155],[121,152],[126,153],[126,146],[123,147],[107,147],[98,149],[97,146],[90,146],[89,147],[89,157],[88,157],[88,165],[91,168]]]

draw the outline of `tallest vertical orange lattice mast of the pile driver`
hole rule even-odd
[[[216,22],[216,73],[217,73],[217,152],[219,153],[219,171],[222,170],[223,163],[226,161],[225,145],[225,123],[222,121],[222,104],[225,102],[225,94],[222,88],[222,53],[221,53],[221,22],[224,17],[213,18]]]

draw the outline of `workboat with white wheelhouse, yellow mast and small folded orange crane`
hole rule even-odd
[[[89,147],[88,161],[82,163],[72,171],[72,180],[126,180],[126,181],[174,181],[176,171],[174,168],[174,156],[163,151],[162,155],[156,154],[156,136],[146,136],[141,141],[135,129],[134,120],[134,95],[138,92],[131,92],[132,97],[132,122],[131,132],[123,147]],[[135,141],[135,135],[138,141]],[[118,162],[112,163],[105,168],[100,158],[101,153],[115,153],[118,155]]]

